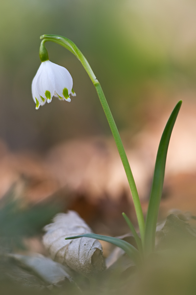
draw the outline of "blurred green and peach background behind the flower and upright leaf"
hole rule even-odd
[[[71,103],[53,98],[35,110],[31,82],[40,65],[39,37],[46,33],[73,40],[92,66],[122,134],[144,212],[163,128],[183,99],[160,216],[172,208],[196,214],[194,0],[1,0],[0,198],[14,191],[22,208],[58,200],[55,212],[75,209],[99,234],[127,232],[122,211],[135,221],[94,86],[80,62],[54,43],[46,44],[49,59],[70,71],[77,96]]]

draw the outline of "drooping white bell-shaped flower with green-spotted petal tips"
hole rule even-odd
[[[66,68],[49,60],[43,61],[32,82],[32,96],[36,103],[36,110],[46,101],[49,103],[52,96],[60,100],[71,101],[70,93],[73,91],[73,79]]]

